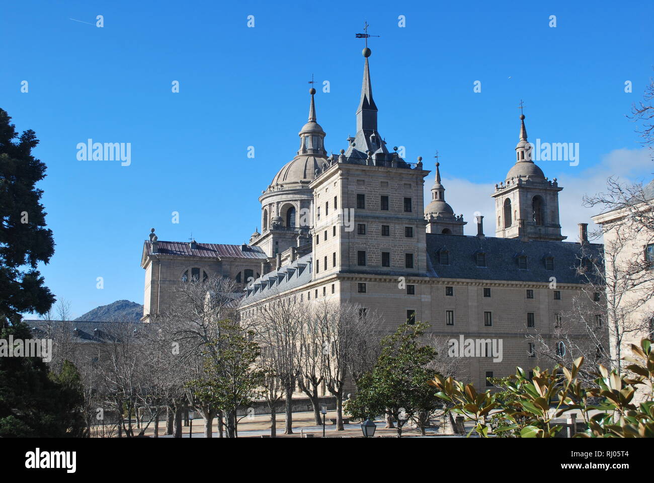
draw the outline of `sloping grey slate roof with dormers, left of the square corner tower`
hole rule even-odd
[[[262,298],[296,289],[311,281],[311,253],[304,255],[294,262],[284,265],[268,274],[264,274],[252,283],[251,289],[245,290],[243,302],[249,304]]]

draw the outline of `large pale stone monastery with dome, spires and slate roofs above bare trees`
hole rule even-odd
[[[573,297],[583,287],[575,269],[581,245],[562,242],[562,188],[525,157],[524,116],[517,160],[513,167],[507,163],[509,173],[491,195],[496,237],[485,236],[483,217],[475,220],[477,236],[464,236],[466,222],[445,202],[439,164],[431,199],[424,200],[430,171],[421,158],[409,163],[397,149],[388,151],[377,131],[369,56],[366,48],[356,135],[339,154],[327,156],[311,89],[300,149],[263,190],[261,233],[255,230],[250,245],[222,245],[232,248],[213,254],[167,247],[164,253],[156,240],[145,242],[144,319],[162,312],[190,268],[244,283],[250,270],[256,275],[244,287],[241,317],[279,296],[303,303],[349,300],[381,313],[384,334],[409,319],[427,321],[447,338],[502,340],[497,360],[465,358],[461,377],[482,389],[487,376],[513,374],[516,366],[548,367],[538,353],[532,357],[525,336],[539,331],[551,337],[558,317],[573,312]],[[579,338],[583,334],[580,325]]]

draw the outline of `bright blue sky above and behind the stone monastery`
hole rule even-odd
[[[312,73],[328,150],[344,149],[354,134],[363,66],[354,33],[364,20],[381,35],[370,43],[380,134],[429,169],[438,149],[447,201],[468,221],[474,211],[493,219],[488,195],[513,164],[520,99],[530,140],[579,143],[579,166],[540,163],[566,188],[562,224],[572,240],[576,220],[589,216],[584,192],[606,175],[647,180],[654,171],[625,117],[653,75],[654,4],[538,4],[3,5],[0,107],[18,130],[35,130],[35,154],[48,166],[40,187],[56,251],[43,266],[46,284],[74,316],[122,298],[142,303],[151,227],[160,240],[191,232],[198,242],[247,240],[260,221],[261,190],[298,149]],[[77,160],[77,143],[88,138],[131,143],[131,165]]]

